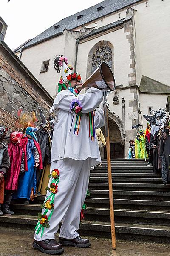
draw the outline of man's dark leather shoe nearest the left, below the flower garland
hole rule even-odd
[[[34,240],[33,247],[37,250],[40,250],[42,253],[47,254],[61,254],[64,249],[62,244],[57,243],[55,239],[47,239],[42,241]]]

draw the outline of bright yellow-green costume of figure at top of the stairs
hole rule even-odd
[[[135,158],[146,158],[145,139],[143,130],[135,138]]]

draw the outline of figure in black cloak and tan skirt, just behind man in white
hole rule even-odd
[[[46,194],[45,188],[48,186],[50,174],[50,162],[51,162],[51,124],[52,121],[47,121],[45,119],[42,110],[39,109],[40,116],[42,119],[42,124],[40,125],[40,129],[38,129],[36,133],[36,137],[38,143],[40,144],[41,153],[42,153],[42,163],[43,163],[43,170],[37,172],[37,193],[41,195]]]

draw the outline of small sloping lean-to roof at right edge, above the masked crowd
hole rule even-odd
[[[162,84],[147,76],[142,76],[139,90],[141,93],[170,94],[170,86]]]

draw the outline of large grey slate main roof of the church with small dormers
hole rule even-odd
[[[82,26],[83,24],[86,24],[92,20],[96,20],[99,17],[103,17],[105,15],[108,15],[109,13],[116,12],[119,9],[130,6],[133,3],[137,3],[140,1],[142,0],[105,0],[101,3],[96,4],[95,6],[92,6],[88,9],[85,9],[81,12],[78,12],[74,15],[60,20],[49,29],[45,30],[40,35],[37,35],[35,38],[25,44],[25,47],[31,46],[32,44],[37,44],[53,36],[57,36],[57,34],[61,34],[65,28],[77,28],[78,26]],[[97,11],[97,8],[100,6],[103,6],[104,8],[100,11]],[[79,15],[83,15],[83,17],[77,20],[77,16]],[[54,29],[54,26],[57,25],[60,25],[60,27],[58,29]]]

